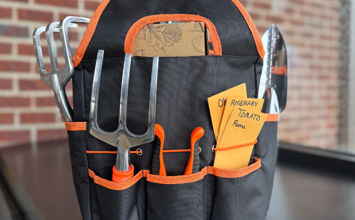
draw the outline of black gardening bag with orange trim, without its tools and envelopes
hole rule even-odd
[[[133,178],[112,182],[116,148],[88,131],[97,51],[104,50],[98,125],[114,131],[124,54],[131,52],[135,32],[149,22],[172,19],[205,22],[215,51],[160,57],[158,65],[155,123],[165,130],[164,149],[189,149],[192,130],[202,127],[200,171],[183,175],[189,152],[166,152],[168,176],[149,174],[152,141],[131,149],[142,150],[140,156],[131,154]],[[277,119],[264,123],[248,167],[218,169],[212,166],[216,142],[207,103],[207,97],[241,83],[246,83],[249,98],[257,97],[263,54],[260,36],[237,0],[103,0],[73,59],[74,122],[67,129],[82,218],[264,219],[275,169]],[[127,127],[135,134],[147,129],[151,66],[152,57],[132,57]]]

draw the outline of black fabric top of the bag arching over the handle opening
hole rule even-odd
[[[100,16],[83,59],[95,59],[104,49],[106,58],[124,56],[124,39],[138,19],[153,14],[195,14],[215,26],[223,55],[258,56],[244,17],[231,0],[110,0]]]

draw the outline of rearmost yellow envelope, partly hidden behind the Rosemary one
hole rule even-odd
[[[246,98],[245,83],[232,87],[228,90],[213,95],[208,100],[209,112],[211,114],[214,137],[217,141],[220,121],[222,120],[224,106],[228,97],[243,97]]]

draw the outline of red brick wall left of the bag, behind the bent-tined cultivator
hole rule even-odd
[[[39,79],[32,32],[67,15],[91,17],[100,0],[0,0],[0,147],[67,138],[53,92]],[[74,54],[85,26],[70,28]],[[64,60],[55,35],[58,61]],[[47,71],[48,50],[41,41]],[[71,101],[71,81],[66,86]]]

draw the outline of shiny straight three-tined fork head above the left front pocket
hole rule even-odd
[[[109,143],[112,146],[117,147],[115,168],[118,171],[127,171],[131,167],[129,148],[143,143],[150,142],[154,139],[156,82],[157,82],[159,56],[153,57],[153,65],[152,65],[151,79],[150,79],[148,130],[142,135],[136,135],[131,133],[126,126],[128,82],[129,82],[129,69],[130,69],[130,61],[131,61],[130,53],[126,53],[124,57],[121,98],[119,103],[118,128],[113,132],[106,132],[103,131],[97,125],[97,102],[98,102],[98,89],[100,83],[102,59],[103,59],[103,50],[98,50],[95,72],[94,72],[93,82],[92,82],[89,130],[92,136],[106,143]]]

